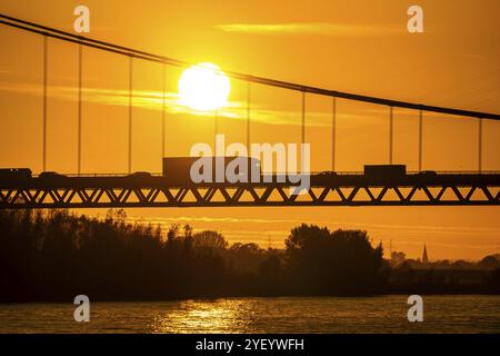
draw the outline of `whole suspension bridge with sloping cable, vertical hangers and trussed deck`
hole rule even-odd
[[[390,100],[356,93],[328,90],[239,72],[226,72],[228,77],[247,83],[247,147],[250,146],[252,119],[252,85],[281,88],[301,93],[301,141],[306,142],[307,100],[309,96],[331,98],[331,170],[310,172],[310,188],[304,195],[292,195],[291,182],[273,179],[271,182],[202,182],[189,179],[172,181],[168,177],[132,172],[132,70],[136,61],[157,62],[163,67],[163,105],[161,128],[161,157],[164,157],[168,116],[164,100],[164,68],[187,68],[189,62],[171,59],[133,48],[76,36],[38,23],[0,14],[0,24],[19,31],[32,32],[42,38],[42,170],[29,175],[26,170],[11,170],[0,175],[0,208],[97,208],[97,207],[227,207],[227,206],[499,206],[500,172],[484,171],[483,121],[500,120],[500,115],[460,110]],[[47,170],[47,88],[49,39],[73,43],[78,47],[78,152],[77,172],[73,175],[48,174]],[[82,68],[83,49],[93,48],[127,57],[129,66],[128,86],[128,174],[83,175],[81,172],[82,144]],[[337,99],[372,103],[388,108],[389,152],[387,175],[336,171],[337,155]],[[391,174],[393,166],[393,109],[403,108],[418,112],[418,170],[403,175]],[[426,112],[470,118],[478,125],[476,171],[426,171],[422,170],[423,117]],[[217,115],[214,134],[218,132]],[[274,177],[276,178],[276,177]]]

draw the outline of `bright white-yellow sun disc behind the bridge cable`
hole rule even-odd
[[[192,66],[179,79],[180,103],[198,111],[226,106],[230,91],[228,76],[212,63]]]

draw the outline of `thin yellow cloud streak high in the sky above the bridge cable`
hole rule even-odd
[[[289,23],[223,23],[216,28],[226,32],[250,34],[318,34],[333,37],[389,36],[400,31],[383,26],[329,23],[329,22],[289,22]]]

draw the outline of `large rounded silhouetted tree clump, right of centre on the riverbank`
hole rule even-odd
[[[299,294],[366,294],[384,283],[382,246],[366,231],[313,225],[292,229],[286,240],[290,283]]]

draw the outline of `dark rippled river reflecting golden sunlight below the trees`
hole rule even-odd
[[[0,333],[500,333],[500,296],[423,296],[410,323],[407,296],[223,298],[74,305],[0,305]]]

